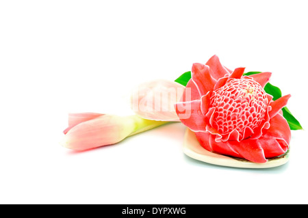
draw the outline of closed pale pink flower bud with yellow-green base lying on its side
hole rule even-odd
[[[61,144],[73,150],[88,150],[116,144],[130,135],[155,128],[166,122],[145,120],[138,115],[118,116],[99,113],[69,115]]]

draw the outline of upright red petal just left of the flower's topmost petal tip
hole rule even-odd
[[[192,81],[194,81],[200,96],[212,91],[215,85],[215,81],[209,74],[209,66],[204,64],[195,63],[192,65]]]

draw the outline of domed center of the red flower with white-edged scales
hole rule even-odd
[[[253,130],[264,120],[268,98],[253,79],[231,79],[213,92],[210,107],[215,108],[214,128],[222,134],[236,129],[243,135],[247,127]]]

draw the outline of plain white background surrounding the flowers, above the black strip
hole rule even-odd
[[[88,152],[60,146],[68,112],[124,113],[131,88],[216,54],[270,71],[307,119],[307,1],[1,1],[0,203],[308,203],[305,131],[290,162],[235,169],[181,151],[185,126]]]

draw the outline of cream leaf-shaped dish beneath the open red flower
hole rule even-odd
[[[194,135],[194,132],[190,131],[189,128],[187,128],[185,133],[183,152],[198,161],[227,167],[270,168],[283,165],[289,160],[289,151],[279,157],[268,159],[268,162],[266,163],[253,163],[251,161],[247,161],[246,159],[233,158],[230,156],[209,152],[199,144],[196,139],[196,135]]]

